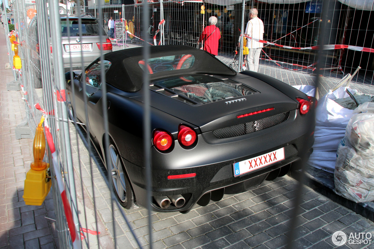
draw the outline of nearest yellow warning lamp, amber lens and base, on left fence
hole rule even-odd
[[[43,121],[44,117],[36,128],[33,145],[34,162],[31,163],[31,169],[26,174],[23,195],[26,205],[42,205],[52,184],[48,174],[49,163],[42,162],[46,148]]]

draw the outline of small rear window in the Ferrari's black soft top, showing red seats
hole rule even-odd
[[[144,60],[138,62],[141,69],[147,73],[154,74],[169,70],[188,69],[193,66],[195,57],[193,55],[172,55],[155,57],[148,60],[147,67]]]

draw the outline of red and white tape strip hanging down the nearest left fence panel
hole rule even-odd
[[[53,137],[52,137],[52,134],[50,133],[49,124],[47,122],[48,113],[40,107],[39,103],[35,104],[35,108],[42,111],[42,113],[45,115],[44,127],[45,127],[46,139],[47,139],[49,150],[52,154],[53,169],[56,173],[57,185],[58,185],[59,192],[61,194],[62,203],[64,205],[64,211],[65,211],[66,221],[67,221],[69,232],[70,232],[71,242],[73,243],[74,249],[80,249],[82,247],[78,239],[79,235],[75,228],[73,213],[71,211],[71,206],[70,206],[68,197],[66,195],[64,181],[62,181],[62,174],[61,174],[61,169],[59,168],[59,163],[57,160],[57,152],[55,148],[55,143],[53,142]]]

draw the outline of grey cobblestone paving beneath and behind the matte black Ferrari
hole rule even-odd
[[[72,127],[71,141],[72,147],[76,150],[78,148],[76,144],[82,142],[80,139],[78,143],[74,141],[76,137],[74,130]],[[83,132],[82,129],[80,131]],[[112,212],[109,189],[100,173],[102,170],[105,178],[107,177],[104,166],[101,164],[96,167],[91,161],[94,183],[92,188],[88,152],[79,146],[79,153],[85,158],[83,160],[78,160],[75,153],[73,152],[73,158],[76,159],[73,162],[74,166],[77,172],[82,172],[77,173],[76,181],[79,182],[82,175],[83,189],[87,190],[83,194],[86,203],[92,198],[95,199],[98,216],[102,218],[111,237],[116,238],[115,243],[118,248],[121,248],[121,245],[139,248],[119,209],[114,208]],[[187,214],[153,212],[151,224],[153,248],[282,248],[287,241],[296,187],[295,179],[283,176],[275,181],[265,181],[246,193],[224,195],[223,200],[211,201],[205,207],[195,205]],[[147,245],[149,242],[147,210],[138,208],[125,210],[125,213],[141,246]],[[95,230],[95,224],[91,225],[90,229]],[[297,248],[333,248],[331,234],[336,230],[343,230],[347,234],[351,232],[374,234],[374,223],[304,187],[301,215],[296,229]],[[364,247],[365,245],[352,245],[343,248]]]

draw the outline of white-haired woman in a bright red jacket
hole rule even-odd
[[[218,40],[221,39],[220,29],[217,24],[217,17],[209,17],[209,26],[206,26],[199,38],[199,42],[204,41],[204,50],[213,55],[218,55]]]

